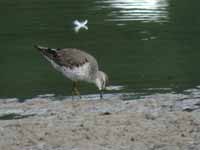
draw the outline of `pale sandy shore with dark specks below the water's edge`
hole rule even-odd
[[[2,150],[199,150],[200,99],[0,100]]]

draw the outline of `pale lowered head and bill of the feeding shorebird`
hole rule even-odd
[[[98,71],[96,74],[95,84],[100,90],[100,97],[103,97],[103,90],[106,88],[106,84],[108,83],[108,76],[103,71]]]

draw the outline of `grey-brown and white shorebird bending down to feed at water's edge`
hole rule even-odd
[[[100,98],[103,98],[108,76],[99,70],[97,60],[92,55],[75,48],[54,49],[39,45],[35,47],[57,71],[72,80],[72,99],[74,95],[81,98],[79,81],[94,83],[100,91]]]

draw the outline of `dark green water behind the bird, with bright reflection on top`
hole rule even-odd
[[[34,44],[94,55],[123,92],[200,84],[200,2],[188,0],[0,0],[0,98],[71,95]],[[73,21],[88,19],[75,33]],[[97,93],[82,83],[83,94]],[[112,92],[112,91],[110,91]]]

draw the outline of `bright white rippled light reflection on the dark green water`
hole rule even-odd
[[[100,9],[111,9],[106,21],[167,22],[168,0],[104,0]]]

